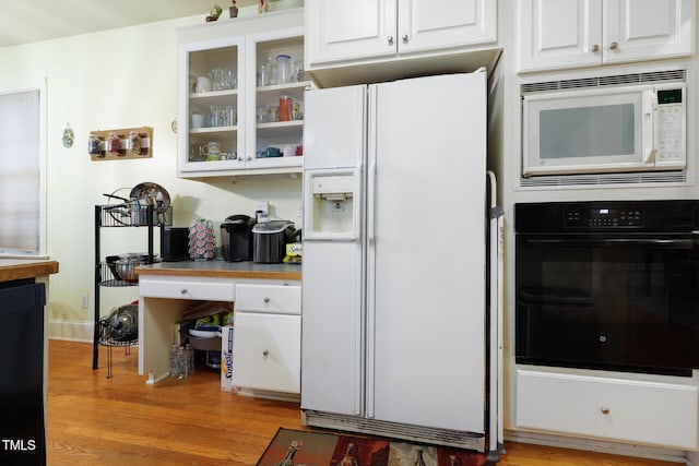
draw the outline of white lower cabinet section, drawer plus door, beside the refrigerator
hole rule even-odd
[[[300,393],[300,286],[237,285],[233,384]]]

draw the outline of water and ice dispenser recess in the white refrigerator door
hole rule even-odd
[[[307,172],[307,216],[304,234],[316,239],[357,237],[355,172]],[[309,214],[309,215],[308,215]]]

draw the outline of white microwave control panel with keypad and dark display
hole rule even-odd
[[[684,166],[686,152],[685,88],[657,91],[657,157],[659,165]]]

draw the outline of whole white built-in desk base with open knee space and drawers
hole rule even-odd
[[[203,301],[233,301],[233,384],[254,396],[298,396],[300,282],[145,273],[139,282],[139,373],[149,375],[149,384],[169,374],[169,350],[183,312]]]

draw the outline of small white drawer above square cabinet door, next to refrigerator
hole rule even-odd
[[[281,314],[301,313],[301,287],[298,285],[238,285],[236,310]]]

